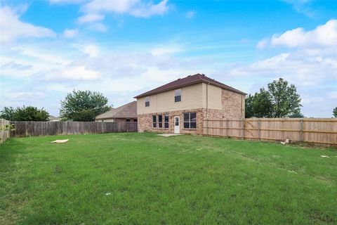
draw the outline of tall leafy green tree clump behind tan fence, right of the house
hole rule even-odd
[[[246,117],[289,117],[301,116],[300,96],[296,86],[279,78],[267,85],[268,90],[249,95],[246,98]]]

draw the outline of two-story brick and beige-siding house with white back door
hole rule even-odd
[[[138,131],[203,134],[208,120],[244,119],[245,96],[206,75],[177,79],[135,97]]]

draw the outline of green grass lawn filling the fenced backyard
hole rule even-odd
[[[0,148],[0,224],[337,224],[333,149],[136,133]]]

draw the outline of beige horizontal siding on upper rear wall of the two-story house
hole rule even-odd
[[[138,98],[137,114],[203,108],[203,86],[201,83],[185,86],[180,89],[181,101],[178,103],[174,102],[174,90],[150,96],[150,107],[145,107],[145,98]]]

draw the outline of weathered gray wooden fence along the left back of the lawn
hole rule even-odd
[[[137,122],[37,122],[13,121],[11,136],[48,136],[60,134],[103,134],[137,131]]]

